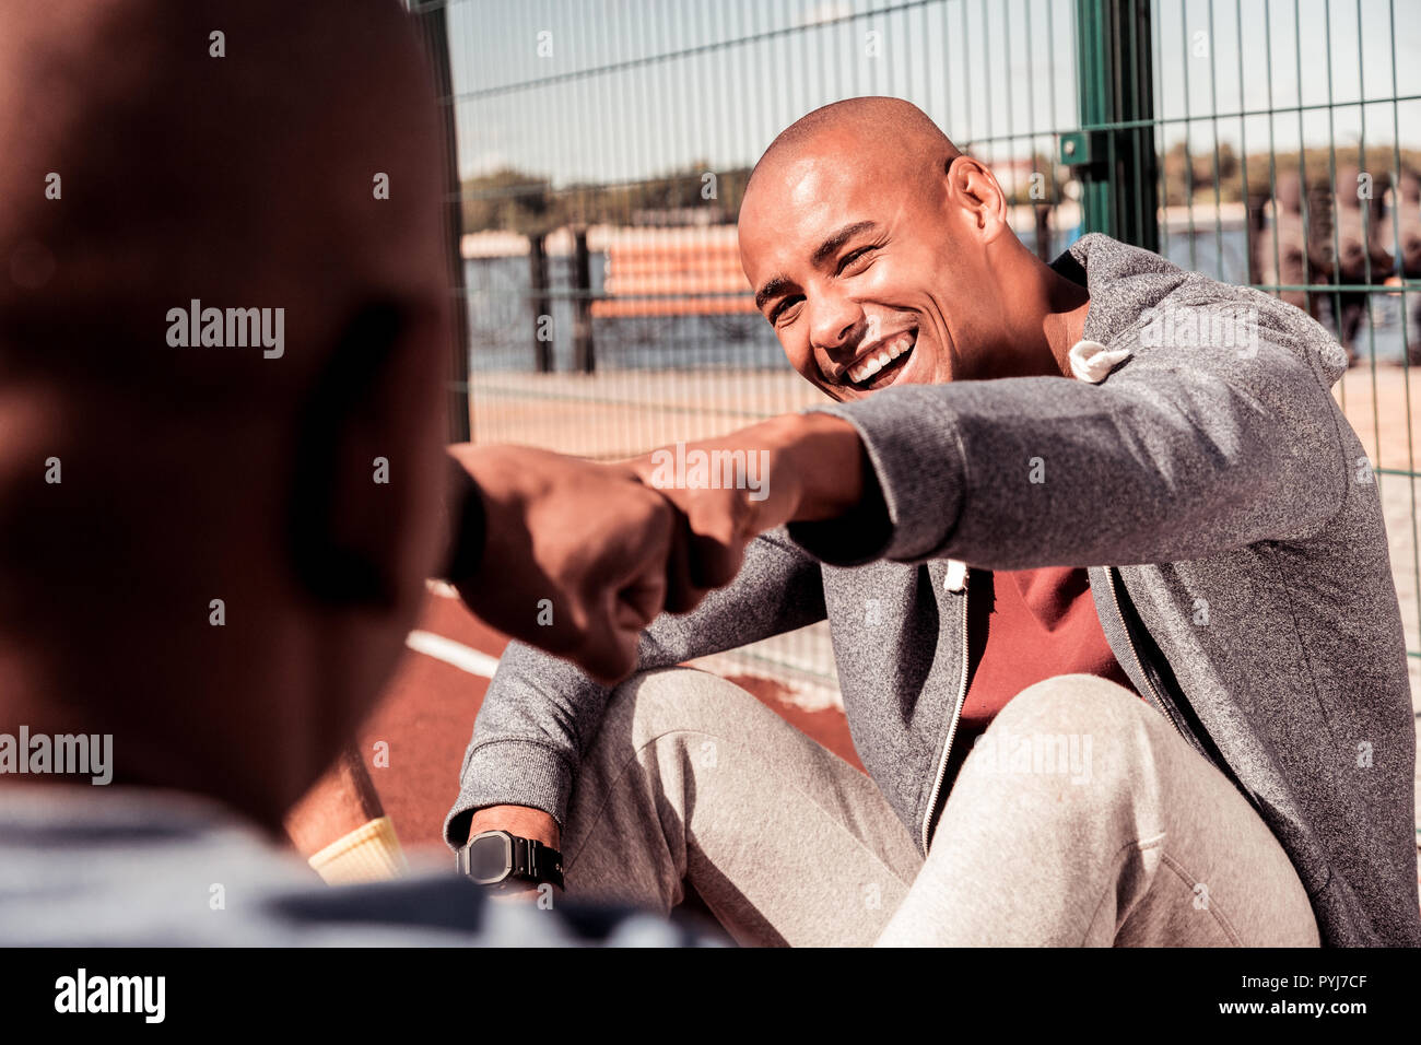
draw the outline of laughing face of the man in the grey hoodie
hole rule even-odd
[[[956,152],[938,138],[902,148],[820,128],[752,178],[739,237],[756,306],[790,364],[836,400],[978,370],[962,345],[985,348],[971,331],[989,330],[992,294],[973,289],[978,252],[948,178]]]

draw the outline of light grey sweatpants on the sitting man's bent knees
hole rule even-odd
[[[563,854],[570,897],[669,911],[689,883],[742,945],[1317,945],[1248,802],[1091,675],[993,719],[926,860],[872,781],[735,684],[635,675],[583,761]]]

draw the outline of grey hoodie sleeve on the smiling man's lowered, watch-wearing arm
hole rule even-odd
[[[664,613],[641,637],[637,671],[733,650],[824,618],[818,563],[783,529],[746,547],[736,579],[688,614]],[[509,643],[463,756],[445,840],[462,846],[476,809],[541,809],[563,825],[573,781],[611,690],[566,660]]]

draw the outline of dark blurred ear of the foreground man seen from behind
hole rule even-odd
[[[412,462],[408,334],[392,303],[362,307],[297,417],[288,549],[297,579],[320,603],[391,610],[401,591],[402,535],[412,500],[398,489]],[[377,459],[384,459],[384,473]]]

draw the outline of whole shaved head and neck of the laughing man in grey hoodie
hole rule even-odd
[[[793,367],[834,398],[1049,373],[1049,354],[1020,350],[1023,280],[1044,266],[1006,212],[986,166],[921,109],[851,98],[790,125],[760,158],[740,262]]]

